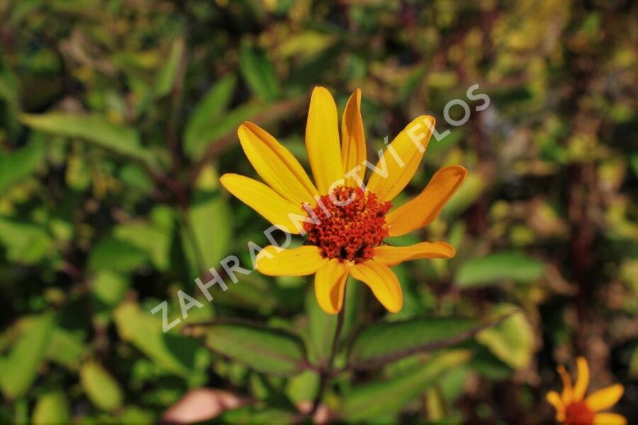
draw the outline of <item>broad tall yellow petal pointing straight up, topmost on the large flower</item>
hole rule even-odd
[[[337,105],[324,87],[315,87],[310,97],[306,150],[317,188],[322,195],[328,195],[330,186],[343,180],[343,166]]]

